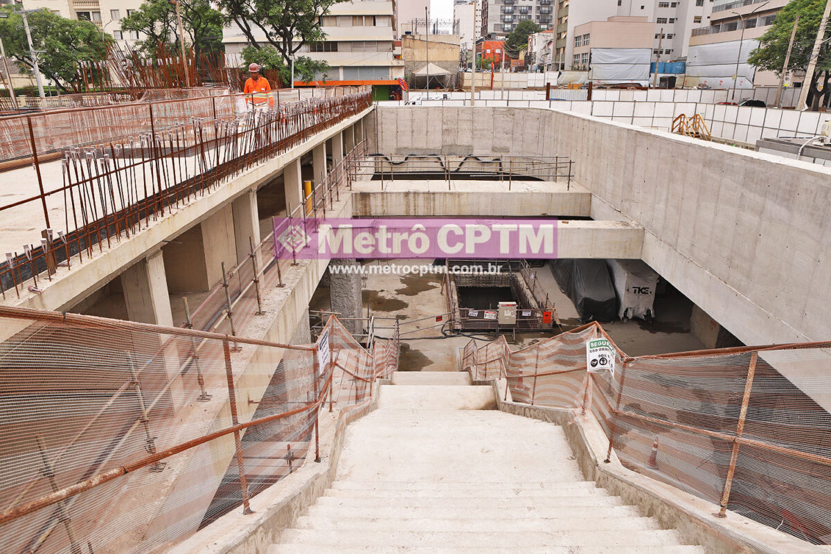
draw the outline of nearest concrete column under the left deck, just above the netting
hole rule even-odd
[[[130,321],[173,326],[165,261],[160,250],[121,273],[121,287]]]

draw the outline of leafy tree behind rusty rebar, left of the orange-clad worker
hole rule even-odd
[[[222,51],[222,13],[211,7],[209,0],[180,0],[182,27],[194,56]],[[168,52],[179,51],[179,24],[176,7],[170,0],[150,0],[121,20],[122,31],[143,33],[146,38],[139,47],[155,56],[159,46]]]

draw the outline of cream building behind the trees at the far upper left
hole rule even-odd
[[[116,43],[130,47],[145,37],[135,31],[121,31],[121,18],[127,17],[142,3],[143,0],[22,0],[26,10],[45,7],[67,19],[93,22],[101,31],[111,34]]]

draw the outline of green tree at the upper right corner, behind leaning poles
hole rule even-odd
[[[808,67],[824,7],[825,0],[793,0],[785,5],[776,14],[770,29],[760,37],[760,46],[750,52],[748,59],[750,65],[781,75],[790,33],[794,29],[796,16],[799,15],[794,49],[790,53],[789,71],[804,71]],[[819,92],[820,81],[824,83],[822,93]],[[814,110],[819,106],[820,100],[824,100],[824,103],[831,101],[829,81],[831,81],[831,42],[825,42],[819,50],[817,69],[809,83],[808,103],[813,106]]]

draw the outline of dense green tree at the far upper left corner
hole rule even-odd
[[[29,51],[23,17],[13,7],[2,7],[10,12],[7,19],[0,19],[0,36],[6,47],[6,55],[12,58],[22,71],[32,73],[34,62]],[[112,41],[92,22],[66,19],[47,9],[27,15],[32,32],[32,45],[40,51],[37,66],[49,81],[57,82],[63,91],[76,83],[79,61],[101,61],[106,57],[107,45]]]

